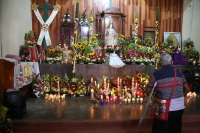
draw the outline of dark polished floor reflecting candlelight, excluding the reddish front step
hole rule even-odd
[[[185,98],[184,116],[200,115],[200,95],[196,98]],[[90,121],[90,120],[133,120],[140,119],[146,107],[146,102],[119,104],[95,104],[85,97],[66,97],[60,102],[51,102],[44,98],[27,99],[27,115],[14,121]],[[144,119],[151,118],[149,109]],[[186,117],[185,117],[186,118]],[[185,120],[185,119],[184,119]]]

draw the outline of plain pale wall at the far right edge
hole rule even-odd
[[[200,52],[200,0],[184,0],[183,6],[183,27],[182,40],[191,38],[194,41],[195,49]]]

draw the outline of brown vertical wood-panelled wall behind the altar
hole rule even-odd
[[[183,0],[49,0],[51,5],[56,2],[61,5],[61,10],[54,18],[49,27],[52,45],[57,45],[60,39],[61,18],[69,9],[72,19],[75,16],[76,3],[79,3],[79,17],[86,10],[86,15],[89,16],[90,10],[93,10],[93,33],[96,33],[96,14],[102,13],[109,7],[109,2],[112,1],[112,7],[119,8],[121,13],[126,15],[125,18],[125,37],[131,37],[131,31],[135,30],[135,12],[138,12],[138,35],[144,38],[145,28],[154,28],[156,21],[156,7],[159,7],[159,43],[164,40],[164,32],[182,32],[182,9]],[[43,4],[44,1],[32,0],[32,3],[37,5]],[[43,15],[43,10],[39,10]],[[50,15],[51,11],[49,11]],[[33,31],[36,37],[40,33],[40,22],[35,14],[32,13]]]

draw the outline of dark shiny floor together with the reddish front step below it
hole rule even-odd
[[[200,95],[185,98],[182,133],[200,132]],[[27,99],[27,115],[13,119],[20,133],[135,133],[146,102],[106,104],[95,109],[89,97],[66,97],[51,102],[44,98]],[[138,133],[150,133],[150,106]]]

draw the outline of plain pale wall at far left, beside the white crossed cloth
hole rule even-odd
[[[1,0],[3,56],[18,55],[24,34],[32,29],[30,4],[30,0]]]

